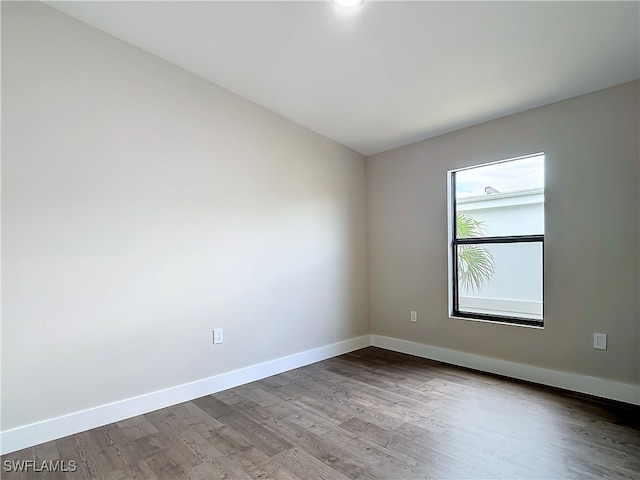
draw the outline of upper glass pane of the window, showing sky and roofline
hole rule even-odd
[[[457,238],[544,234],[544,155],[455,173]]]

